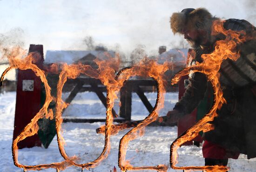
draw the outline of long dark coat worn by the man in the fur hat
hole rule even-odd
[[[246,20],[229,19],[224,24],[225,29],[231,30],[247,31],[248,27],[255,32],[255,27]],[[202,61],[202,53],[210,53],[210,51],[200,49],[201,47],[195,49],[195,59],[198,62]],[[251,41],[243,43],[239,49],[241,50],[240,58],[250,53],[256,55],[255,35]],[[256,66],[256,59],[252,61],[252,64]],[[255,70],[253,66],[252,69]],[[245,79],[246,85],[239,86],[235,82],[232,83],[228,77],[234,72],[219,72],[223,97],[227,100],[227,104],[223,104],[217,112],[218,116],[212,121],[215,129],[206,132],[205,139],[224,147],[229,152],[244,153],[247,154],[248,159],[254,158],[256,157],[256,95],[253,94],[252,87],[256,85],[256,82]],[[206,95],[206,90],[209,87],[211,85],[207,83],[206,76],[195,72],[188,89],[182,99],[176,103],[174,109],[183,112],[183,115],[190,114]]]

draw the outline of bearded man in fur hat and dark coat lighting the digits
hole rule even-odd
[[[213,52],[216,41],[226,38],[222,34],[211,34],[215,20],[218,18],[204,8],[187,8],[172,14],[172,31],[183,35],[194,48],[195,57],[189,65],[196,61],[202,63],[201,55]],[[228,159],[237,159],[239,153],[247,154],[248,159],[256,157],[256,28],[239,19],[228,19],[223,26],[226,30],[243,30],[251,39],[237,47],[241,57],[236,62],[224,60],[219,70],[227,103],[218,110],[218,117],[212,122],[215,129],[203,134],[202,152],[206,166],[226,166]],[[191,82],[174,110],[168,112],[168,121],[175,122],[190,114],[209,94],[211,84],[204,74],[195,72],[189,77]]]

